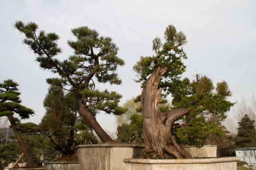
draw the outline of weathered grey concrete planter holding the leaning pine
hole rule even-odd
[[[144,146],[137,144],[82,144],[76,146],[80,170],[125,170],[124,158],[137,158]]]

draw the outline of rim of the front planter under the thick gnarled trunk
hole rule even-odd
[[[239,157],[220,157],[220,158],[200,158],[200,159],[124,159],[125,163],[140,163],[140,164],[192,164],[192,163],[218,163],[239,161]]]

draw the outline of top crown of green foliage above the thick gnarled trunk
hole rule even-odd
[[[136,65],[133,66],[133,70],[137,73],[138,79],[136,82],[141,82],[144,85],[147,78],[156,68],[169,68],[162,77],[159,87],[170,93],[168,87],[180,84],[180,75],[186,68],[182,59],[187,59],[186,53],[183,51],[183,45],[187,41],[186,35],[183,32],[177,32],[172,25],[166,27],[164,38],[164,43],[158,37],[153,40],[152,49],[155,51],[155,55],[152,57],[141,57]]]

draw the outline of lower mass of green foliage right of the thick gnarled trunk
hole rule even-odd
[[[174,133],[180,144],[201,147],[209,136],[215,140],[225,134],[219,121],[226,119],[225,113],[234,103],[226,100],[231,92],[225,81],[217,83],[216,87],[207,76],[196,75],[191,83],[187,79],[185,81],[187,92],[180,98],[174,98],[173,103],[175,108],[190,106],[190,114],[182,118],[190,126],[176,129]],[[210,122],[212,116],[216,120]]]

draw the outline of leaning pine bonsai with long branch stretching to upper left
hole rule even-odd
[[[18,21],[15,27],[25,34],[24,43],[38,55],[36,60],[40,67],[58,75],[56,78],[48,78],[47,83],[67,91],[79,91],[82,94],[79,114],[89,122],[103,143],[114,142],[91,114],[101,110],[115,115],[125,112],[125,109],[118,106],[120,94],[95,89],[96,80],[111,85],[121,84],[116,70],[118,66],[124,65],[124,61],[117,56],[118,47],[112,39],[100,36],[87,26],[72,29],[77,40],[69,40],[67,43],[74,54],[61,61],[56,59],[62,51],[57,44],[57,34],[46,34],[45,31],[37,33],[38,26],[33,22],[25,25]]]

